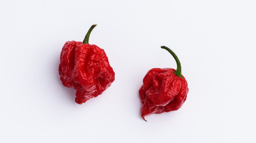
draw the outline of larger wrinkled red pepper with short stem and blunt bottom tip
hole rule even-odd
[[[60,55],[60,80],[64,86],[76,89],[78,104],[102,94],[115,80],[104,50],[88,43],[96,25],[91,26],[83,42],[67,41]]]

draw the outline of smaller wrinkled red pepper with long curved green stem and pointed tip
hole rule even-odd
[[[141,99],[141,117],[151,114],[175,111],[181,108],[187,99],[188,87],[185,77],[181,74],[181,63],[176,54],[168,47],[167,50],[177,63],[177,70],[172,68],[153,68],[143,78],[139,89]]]

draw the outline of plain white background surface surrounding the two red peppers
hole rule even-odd
[[[0,4],[0,142],[256,142],[254,0],[3,1]],[[79,105],[59,80],[66,41],[104,49],[116,80]],[[140,117],[151,68],[175,68],[187,101]]]

